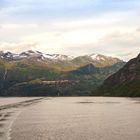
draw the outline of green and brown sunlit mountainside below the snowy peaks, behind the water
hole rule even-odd
[[[23,59],[0,58],[1,96],[92,95],[107,77],[125,64],[103,55],[98,55],[98,59],[81,56],[51,60],[38,54]]]

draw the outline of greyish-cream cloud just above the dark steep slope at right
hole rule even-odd
[[[96,42],[95,46],[105,53],[129,60],[140,53],[140,31],[113,32]]]

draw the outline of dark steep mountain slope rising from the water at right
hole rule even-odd
[[[140,55],[107,78],[98,93],[107,96],[140,96]]]

